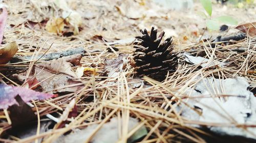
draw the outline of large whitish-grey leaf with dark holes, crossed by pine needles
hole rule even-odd
[[[253,126],[246,127],[246,130],[236,126],[238,124],[255,125],[256,97],[249,91],[250,84],[245,77],[225,79],[205,77],[196,81],[198,82],[194,87],[185,90],[185,95],[188,95],[189,99],[185,98],[181,104],[178,103],[177,111],[181,111],[184,118],[198,123],[230,125],[198,127],[208,128],[214,133],[225,136],[256,139],[255,135],[251,134],[256,132]],[[201,115],[191,107],[200,109]]]

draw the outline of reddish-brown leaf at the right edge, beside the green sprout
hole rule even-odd
[[[256,22],[251,22],[251,23],[245,23],[238,25],[236,29],[247,33],[249,36],[255,36],[256,35]]]

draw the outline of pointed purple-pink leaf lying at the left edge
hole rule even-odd
[[[6,109],[8,106],[17,104],[14,99],[17,95],[19,95],[24,102],[43,100],[56,96],[54,94],[40,93],[25,88],[13,87],[12,85],[0,84],[0,109]]]

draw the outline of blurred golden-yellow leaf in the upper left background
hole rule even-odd
[[[63,18],[51,18],[47,23],[46,23],[46,30],[50,33],[55,33],[55,34],[60,34],[64,30],[64,19]]]

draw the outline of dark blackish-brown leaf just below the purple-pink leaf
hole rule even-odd
[[[36,115],[31,107],[26,104],[19,95],[14,99],[17,101],[18,105],[14,104],[8,108],[12,127],[28,124],[28,122],[36,119]]]

